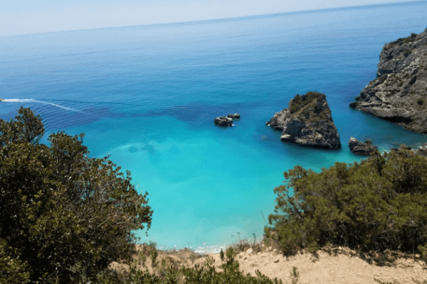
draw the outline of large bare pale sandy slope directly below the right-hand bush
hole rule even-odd
[[[354,253],[354,252],[353,252]],[[239,253],[236,259],[241,270],[255,275],[259,270],[270,278],[278,278],[283,283],[292,283],[290,273],[292,267],[300,272],[298,283],[376,283],[398,280],[399,283],[413,283],[412,278],[427,280],[427,266],[413,258],[399,258],[390,266],[369,264],[368,261],[352,256],[347,249],[337,253],[320,251],[318,258],[310,253],[300,253],[286,258],[279,253],[265,251],[262,253]],[[216,263],[221,263],[218,255],[214,255]]]

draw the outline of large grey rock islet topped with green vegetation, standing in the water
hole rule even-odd
[[[266,125],[282,131],[282,141],[315,148],[341,148],[326,95],[319,92],[297,94],[288,109],[277,112]]]

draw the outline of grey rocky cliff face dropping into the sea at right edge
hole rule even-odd
[[[427,133],[427,29],[384,45],[377,78],[350,107]]]

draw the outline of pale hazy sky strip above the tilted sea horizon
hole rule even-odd
[[[408,0],[0,0],[0,36],[405,1]]]

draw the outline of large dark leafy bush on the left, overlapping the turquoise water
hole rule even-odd
[[[21,107],[0,120],[0,241],[32,282],[96,277],[132,251],[132,230],[149,229],[147,192],[139,195],[120,167],[88,158],[83,134],[44,134],[40,116]],[[0,266],[7,273],[8,266]],[[79,276],[80,275],[80,276]]]

